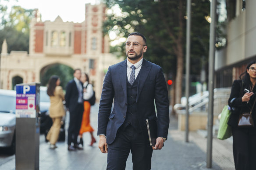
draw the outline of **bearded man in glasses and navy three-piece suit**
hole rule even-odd
[[[168,134],[167,84],[161,67],[143,59],[147,46],[141,33],[128,35],[125,49],[127,59],[110,66],[104,79],[98,115],[99,148],[108,153],[107,170],[125,170],[130,151],[133,170],[150,170],[153,149],[162,149]],[[146,119],[157,119],[153,147]]]

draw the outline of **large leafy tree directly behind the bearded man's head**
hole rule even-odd
[[[180,103],[185,56],[186,0],[106,0],[113,10],[118,5],[121,13],[107,15],[103,25],[105,33],[114,32],[118,38],[127,37],[133,31],[141,32],[147,38],[145,58],[163,67],[171,75],[175,94],[171,96],[172,106]],[[192,73],[200,73],[202,56],[208,56],[210,14],[208,0],[193,0],[192,3]],[[195,23],[194,23],[195,21]],[[115,50],[124,56],[124,45]]]

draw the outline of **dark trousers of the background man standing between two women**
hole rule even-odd
[[[74,145],[77,144],[77,137],[81,127],[82,116],[83,116],[83,104],[78,104],[78,106],[73,111],[69,111],[69,127],[68,127],[68,145],[73,142]]]

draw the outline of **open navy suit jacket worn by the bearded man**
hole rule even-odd
[[[124,123],[127,112],[127,61],[124,60],[108,68],[103,82],[98,114],[98,135],[104,134],[111,144],[118,128]],[[169,128],[169,100],[167,84],[162,68],[143,59],[137,90],[137,119],[145,139],[148,140],[146,119],[156,119],[157,135],[167,138]],[[111,106],[114,99],[112,113]]]

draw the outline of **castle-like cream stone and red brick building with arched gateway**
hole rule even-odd
[[[13,80],[22,83],[39,82],[49,66],[64,64],[72,69],[80,68],[88,73],[93,82],[96,98],[100,99],[103,78],[108,66],[119,62],[109,53],[109,38],[102,32],[106,18],[106,6],[85,4],[85,21],[41,21],[39,12],[32,19],[29,36],[29,54],[11,51],[7,54],[4,41],[1,53],[0,88],[11,90]]]

